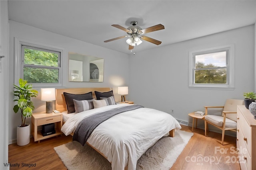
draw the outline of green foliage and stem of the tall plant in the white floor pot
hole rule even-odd
[[[33,90],[32,85],[27,83],[27,80],[20,78],[19,86],[13,84],[14,101],[18,102],[18,104],[13,107],[13,111],[15,113],[19,110],[21,111],[21,127],[25,127],[26,117],[30,117],[34,110],[34,104],[31,98],[38,96],[38,91]]]

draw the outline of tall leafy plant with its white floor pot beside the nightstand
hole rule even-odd
[[[38,96],[38,91],[32,89],[31,84],[27,84],[27,80],[20,78],[19,86],[14,85],[14,101],[18,103],[13,107],[13,111],[17,113],[21,111],[21,125],[17,127],[17,145],[24,146],[30,142],[30,124],[25,124],[26,118],[32,115],[34,110],[32,97]]]

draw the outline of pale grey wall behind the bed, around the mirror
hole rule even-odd
[[[10,22],[10,67],[9,67],[9,143],[13,143],[16,140],[16,127],[20,125],[20,113],[14,113],[12,110],[14,106],[13,100],[13,83],[14,83],[14,37],[19,39],[26,39],[38,43],[53,45],[61,47],[63,51],[62,67],[63,74],[63,86],[64,88],[76,88],[76,87],[112,87],[114,95],[118,98],[117,87],[128,85],[128,55],[99,47],[90,43],[58,35],[49,31],[31,27],[15,21]],[[54,26],[54,25],[53,25]],[[68,52],[75,52],[84,55],[90,55],[94,57],[100,57],[104,59],[104,82],[68,82]],[[37,90],[40,91],[40,88]],[[117,99],[118,100],[118,99]],[[37,98],[33,98],[35,110],[45,111],[45,102],[40,101],[40,95]],[[55,105],[54,105],[55,106]],[[26,120],[27,123],[31,122],[31,119]]]

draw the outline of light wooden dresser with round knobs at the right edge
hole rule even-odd
[[[236,147],[241,170],[256,170],[256,119],[244,105],[237,106]]]

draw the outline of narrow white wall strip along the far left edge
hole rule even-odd
[[[9,24],[8,24],[8,2],[0,1],[0,55],[4,56],[0,63],[0,169],[7,170],[8,166],[8,65],[9,65]]]

